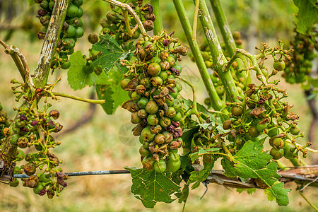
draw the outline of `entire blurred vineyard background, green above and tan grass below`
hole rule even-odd
[[[243,48],[253,52],[256,45],[261,42],[269,42],[276,45],[277,40],[283,40],[288,46],[289,40],[293,38],[293,21],[297,8],[293,0],[227,0],[221,1],[228,23],[232,31],[240,31],[243,38]],[[167,32],[175,31],[175,37],[186,43],[182,33],[181,25],[172,1],[161,0],[164,28]],[[184,0],[189,20],[193,20],[194,6],[192,0]],[[101,29],[99,22],[105,18],[109,10],[109,4],[104,1],[86,0],[83,4],[85,11],[83,20],[85,35],[98,33]],[[211,8],[210,8],[211,9]],[[16,45],[28,60],[30,70],[34,70],[40,54],[42,40],[37,40],[37,32],[41,25],[35,16],[37,6],[33,0],[0,0],[0,39],[5,40],[8,45]],[[211,11],[213,17],[213,12]],[[88,42],[86,38],[78,40],[76,49],[88,53]],[[197,38],[199,43],[203,42],[203,31],[198,27]],[[222,38],[220,38],[222,39]],[[248,41],[248,42],[247,42]],[[272,45],[272,46],[273,46]],[[189,59],[182,61],[185,78],[188,78],[197,86],[198,101],[203,102],[206,91],[201,85],[199,73],[195,64]],[[20,80],[18,71],[11,62],[11,58],[0,51],[0,102],[9,116],[13,116],[13,102],[11,93],[12,78]],[[62,81],[57,84],[57,90],[64,93],[88,97],[93,88],[73,91],[69,88],[64,71],[55,71],[51,81],[58,76],[63,76]],[[306,105],[300,85],[290,86],[281,83],[281,87],[287,88],[288,102],[294,104],[293,110],[300,115],[300,126],[302,131],[309,128],[311,115]],[[191,90],[184,86],[182,91],[184,97],[190,97]],[[53,102],[53,107],[61,112],[59,122],[68,129],[78,122],[88,110],[88,105],[73,100],[62,100]],[[139,143],[131,134],[130,114],[121,108],[114,115],[106,115],[102,107],[96,107],[90,124],[81,126],[71,134],[62,134],[58,139],[62,142],[55,153],[64,161],[61,165],[65,172],[87,171],[87,170],[120,170],[122,167],[140,167],[138,154]],[[62,131],[61,131],[62,132]],[[124,139],[123,139],[124,138]],[[305,144],[306,139],[301,141]],[[269,147],[268,147],[269,148]],[[288,164],[288,161],[284,161]],[[309,154],[309,164],[317,164],[317,158]],[[216,169],[220,165],[216,165]],[[0,184],[0,211],[149,211],[141,202],[130,193],[130,175],[95,176],[95,177],[72,177],[68,180],[69,187],[61,193],[59,198],[52,200],[45,196],[39,197],[33,194],[32,189],[19,186],[16,189]],[[263,191],[249,196],[246,192],[238,194],[235,189],[227,189],[219,185],[209,185],[206,196],[200,200],[205,191],[201,186],[190,192],[185,211],[310,211],[310,206],[295,191],[295,184],[286,185],[293,189],[290,193],[290,204],[279,207],[274,202],[269,202]],[[314,188],[305,190],[305,195],[318,204],[317,191]],[[181,211],[182,205],[174,202],[172,204],[158,204],[153,211]]]

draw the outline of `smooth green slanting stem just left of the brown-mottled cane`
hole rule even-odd
[[[211,99],[211,106],[215,110],[221,110],[225,107],[225,104],[222,100],[220,100],[218,93],[216,93],[216,88],[214,88],[213,82],[211,81],[210,75],[208,74],[208,69],[206,69],[206,64],[204,63],[204,59],[202,57],[198,43],[196,42],[196,40],[192,39],[192,27],[189,22],[189,18],[187,17],[187,13],[185,11],[182,0],[173,0],[173,4],[175,5],[180,23],[184,30],[184,34],[187,37],[187,41],[194,56],[194,60],[196,61],[196,66],[199,69],[201,78],[204,81],[204,86],[206,87],[208,96]]]

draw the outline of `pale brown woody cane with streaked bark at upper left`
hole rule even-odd
[[[37,88],[43,88],[47,84],[52,58],[57,48],[57,42],[59,41],[59,35],[70,2],[71,0],[55,1],[49,26],[47,27],[47,32],[49,33],[45,35],[45,41],[42,45],[37,68],[35,69],[35,77],[33,78],[33,82]]]

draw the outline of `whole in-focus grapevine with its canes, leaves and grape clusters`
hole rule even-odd
[[[298,142],[305,137],[298,126],[300,117],[285,102],[288,92],[277,76],[283,73],[289,83],[314,81],[308,76],[317,57],[315,28],[300,25],[309,33],[295,30],[289,49],[278,40],[277,47],[263,42],[251,54],[242,49],[240,33],[231,33],[220,1],[211,0],[211,5],[223,43],[205,0],[194,1],[193,26],[184,3],[173,0],[187,46],[175,31],[164,30],[158,0],[104,1],[110,10],[99,22],[100,31],[87,36],[90,47],[85,54],[74,50],[85,33],[85,2],[35,0],[42,25],[37,37],[44,43],[34,74],[22,52],[0,40],[22,77],[11,81],[20,103],[13,107],[16,116],[8,117],[0,104],[0,182],[18,187],[21,178],[24,187],[52,199],[67,187],[71,176],[130,173],[131,192],[146,208],[153,208],[160,201],[175,201],[174,196],[185,205],[190,185],[196,189],[213,181],[223,184],[215,178],[221,175],[243,188],[264,189],[270,200],[288,205],[290,189],[282,177],[290,167],[282,161],[310,167],[304,158],[318,151],[310,148],[310,142]],[[196,37],[198,20],[205,35],[201,45]],[[197,100],[196,85],[182,76],[182,59],[188,53],[208,93],[206,106]],[[60,68],[66,70],[73,90],[93,86],[98,100],[57,91],[61,77],[52,81],[49,73]],[[182,95],[182,83],[192,89],[192,98]],[[59,110],[52,108],[52,101],[59,98],[100,104],[107,114],[118,106],[131,112],[140,167],[64,172],[62,160],[52,153],[61,145],[54,137],[63,125],[57,122]],[[217,162],[223,170],[214,170]],[[300,192],[317,186],[312,183],[317,178],[310,177],[295,178],[300,180],[296,181]]]

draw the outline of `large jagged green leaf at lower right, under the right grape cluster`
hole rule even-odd
[[[270,163],[271,155],[263,151],[263,141],[247,141],[242,149],[234,155],[231,160],[234,162],[235,174],[242,178],[259,178],[269,188],[272,196],[280,206],[288,204],[288,189],[276,186],[276,182],[281,177],[276,172],[277,164]],[[230,163],[223,158],[223,167],[232,173],[229,168]],[[225,165],[225,166],[224,166]]]

